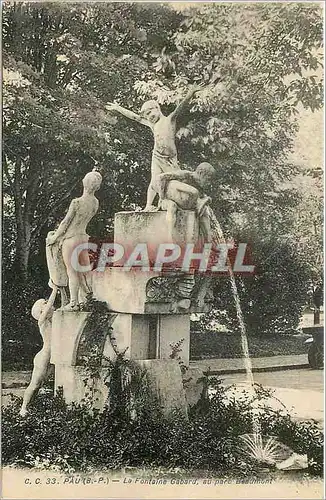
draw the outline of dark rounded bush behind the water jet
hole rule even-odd
[[[250,242],[251,235],[242,238]],[[236,277],[242,312],[249,335],[294,333],[311,285],[310,269],[292,239],[266,240],[256,236],[249,243],[255,274]],[[228,330],[239,331],[236,311],[226,276],[216,280],[215,308],[201,318],[202,328],[212,319]]]

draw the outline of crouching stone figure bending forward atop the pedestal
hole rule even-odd
[[[204,241],[211,241],[210,216],[207,208],[211,198],[205,195],[205,190],[211,188],[215,176],[215,168],[207,162],[200,163],[195,172],[176,170],[157,176],[154,189],[161,199],[160,208],[167,211],[171,241],[175,241],[178,209],[194,210],[199,218],[199,228]]]

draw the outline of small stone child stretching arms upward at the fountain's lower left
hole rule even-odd
[[[25,390],[23,404],[19,412],[22,417],[25,417],[27,414],[27,407],[32,397],[41,387],[47,375],[51,359],[52,316],[54,312],[53,305],[57,292],[58,288],[53,285],[53,290],[49,300],[39,299],[32,307],[32,316],[38,321],[38,327],[43,339],[43,347],[34,358],[32,379],[29,386]]]

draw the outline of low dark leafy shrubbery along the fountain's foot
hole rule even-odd
[[[166,418],[155,399],[147,401],[133,416],[117,407],[100,413],[85,403],[66,404],[59,391],[54,397],[39,395],[21,418],[21,398],[13,396],[2,413],[3,464],[70,472],[126,466],[200,468],[221,474],[255,470],[250,458],[244,461],[238,453],[239,436],[252,432],[252,405],[245,393],[241,399],[226,398],[225,389],[217,385],[212,398],[203,397],[190,409],[188,420],[178,413]],[[266,411],[262,430],[307,453],[311,471],[322,473],[323,439],[316,424]]]

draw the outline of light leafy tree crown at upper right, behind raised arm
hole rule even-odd
[[[311,75],[321,65],[321,11],[301,4],[204,4],[183,14],[176,50],[162,56],[169,55],[173,75],[161,62],[158,77],[137,89],[170,104],[182,85],[210,84],[180,130],[181,159],[217,165],[218,213],[259,219],[267,212],[262,204],[270,213],[277,207],[280,190],[282,201],[280,184],[296,172],[287,158],[298,103],[322,105],[321,78]]]

